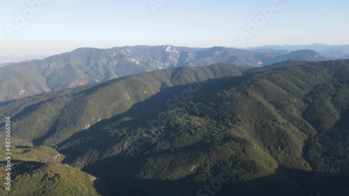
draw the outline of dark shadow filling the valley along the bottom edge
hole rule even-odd
[[[200,188],[211,181],[198,181],[194,173],[178,180],[136,179],[142,156],[112,156],[84,167],[84,172],[105,179],[110,195],[197,195]],[[154,168],[154,172],[156,168]],[[215,179],[218,179],[218,175]],[[215,180],[214,179],[214,180]],[[349,172],[325,174],[279,167],[275,174],[245,182],[232,180],[222,183],[214,194],[226,196],[348,196]],[[199,194],[200,195],[200,194]],[[207,196],[205,195],[205,196]]]

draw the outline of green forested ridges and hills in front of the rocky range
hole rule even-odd
[[[349,195],[349,60],[230,63],[2,103],[15,128],[10,195]]]

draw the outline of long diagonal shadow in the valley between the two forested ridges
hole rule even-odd
[[[209,98],[211,95],[219,91],[228,90],[240,82],[243,82],[247,79],[246,76],[241,77],[224,77],[219,79],[211,79],[202,82],[198,92],[192,94],[191,98],[193,99],[205,99]],[[193,88],[196,88],[196,84],[193,84]],[[75,133],[73,136],[61,142],[57,145],[59,153],[64,154],[66,158],[64,163],[71,164],[72,161],[77,157],[90,151],[91,149],[107,149],[117,142],[121,142],[125,138],[116,138],[112,140],[113,132],[117,132],[123,128],[128,128],[128,130],[137,130],[138,128],[148,127],[146,121],[156,119],[160,112],[165,112],[168,108],[166,107],[166,102],[170,98],[173,99],[173,96],[179,96],[181,91],[188,90],[189,84],[171,86],[164,89],[161,89],[160,92],[156,93],[154,96],[151,96],[147,100],[144,100],[140,103],[135,103],[129,110],[122,114],[113,116],[110,119],[104,119],[95,125],[91,126],[88,130],[82,130],[78,133]],[[220,88],[214,88],[213,86],[220,86]],[[202,96],[202,93],[205,92],[205,97]],[[184,103],[188,103],[187,100]],[[174,102],[173,102],[174,103]],[[117,125],[112,125],[112,131],[106,128],[107,125],[110,125],[119,119],[124,117],[134,118],[128,121],[122,121],[117,123]],[[129,136],[127,136],[129,137]],[[84,142],[81,141],[82,138],[85,138]],[[87,140],[88,138],[88,140]],[[144,146],[146,147],[146,146]]]

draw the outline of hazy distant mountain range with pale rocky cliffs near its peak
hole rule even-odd
[[[59,91],[163,68],[229,63],[245,67],[268,66],[286,60],[325,61],[311,50],[240,50],[227,47],[162,46],[79,48],[42,60],[0,66],[0,102]]]

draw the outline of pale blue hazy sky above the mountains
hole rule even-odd
[[[0,56],[124,45],[349,44],[348,0],[279,0],[255,32],[248,20],[273,0],[45,0],[35,10],[29,1],[39,0],[0,1]],[[245,42],[239,30],[250,33]]]

